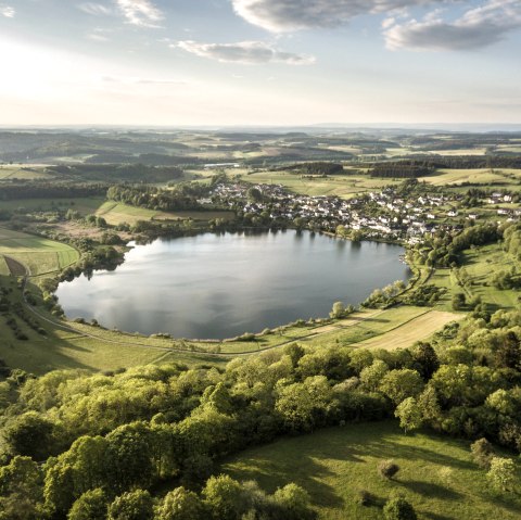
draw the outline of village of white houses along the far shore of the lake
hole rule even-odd
[[[512,207],[511,193],[494,192],[463,207],[461,193],[386,187],[353,199],[310,196],[288,191],[281,185],[221,182],[199,202],[229,207],[253,224],[293,225],[354,234],[357,238],[418,243],[425,233],[461,230],[478,219],[516,221],[521,210]],[[421,191],[421,194],[419,193]]]

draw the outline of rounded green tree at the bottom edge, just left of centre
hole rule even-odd
[[[239,519],[244,512],[242,486],[227,474],[211,477],[203,489],[203,496],[215,520]]]

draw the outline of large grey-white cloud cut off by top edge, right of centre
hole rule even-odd
[[[447,0],[450,1],[450,0]],[[272,33],[334,27],[361,14],[387,13],[444,0],[231,0],[239,16]]]

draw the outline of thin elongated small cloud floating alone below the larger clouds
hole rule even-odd
[[[239,41],[237,43],[200,43],[198,41],[179,41],[170,47],[179,47],[198,56],[209,58],[219,62],[237,63],[287,63],[289,65],[309,65],[313,56],[295,54],[275,49],[263,41]]]

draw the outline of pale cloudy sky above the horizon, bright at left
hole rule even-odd
[[[521,123],[521,0],[0,0],[0,125]]]

